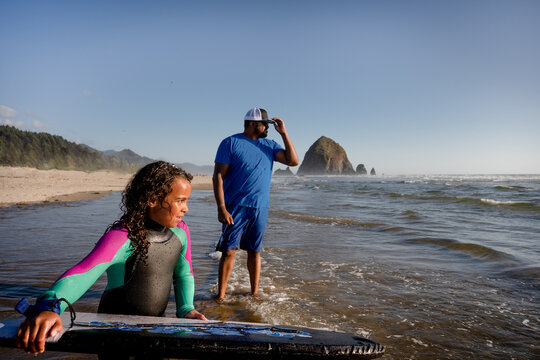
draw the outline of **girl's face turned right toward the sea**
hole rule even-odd
[[[184,178],[177,177],[172,183],[172,191],[163,203],[150,202],[148,217],[166,227],[176,227],[188,212],[187,201],[191,195],[191,184]]]

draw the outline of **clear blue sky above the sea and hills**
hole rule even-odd
[[[2,124],[211,165],[254,106],[301,159],[540,173],[540,1],[0,0]]]

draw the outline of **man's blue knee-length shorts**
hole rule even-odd
[[[261,251],[264,231],[268,220],[268,208],[227,206],[234,225],[222,225],[217,251],[242,250]]]

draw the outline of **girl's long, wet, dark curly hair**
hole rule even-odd
[[[110,228],[127,229],[133,256],[146,259],[149,242],[146,221],[149,203],[157,201],[163,204],[165,197],[172,191],[172,183],[176,178],[191,183],[193,176],[185,170],[165,161],[156,161],[141,168],[127,184],[122,192],[123,215]],[[109,230],[107,229],[107,230]]]

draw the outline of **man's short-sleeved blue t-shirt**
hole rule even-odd
[[[252,140],[243,134],[224,139],[215,162],[229,165],[223,179],[225,204],[269,207],[274,157],[281,150],[281,145],[274,140]]]

